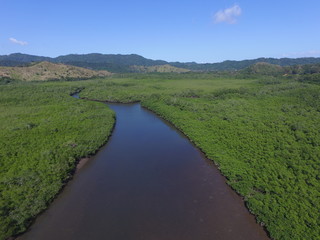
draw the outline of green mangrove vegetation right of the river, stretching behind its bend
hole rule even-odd
[[[110,79],[80,96],[141,100],[219,166],[272,238],[317,239],[320,86],[302,76],[196,75]]]

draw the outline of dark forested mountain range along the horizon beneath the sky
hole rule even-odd
[[[258,58],[242,61],[224,61],[220,63],[204,63],[196,62],[166,62],[163,60],[147,59],[137,54],[121,55],[121,54],[69,54],[56,58],[27,55],[14,53],[10,55],[0,56],[0,66],[24,66],[31,62],[48,61],[53,63],[64,63],[78,67],[84,67],[95,70],[108,70],[110,72],[132,72],[132,66],[161,66],[170,65],[176,68],[188,69],[191,71],[226,71],[241,70],[259,62],[275,64],[280,66],[293,66],[304,64],[320,63],[320,58]],[[136,68],[138,72],[143,68]],[[148,71],[148,68],[146,68]]]

